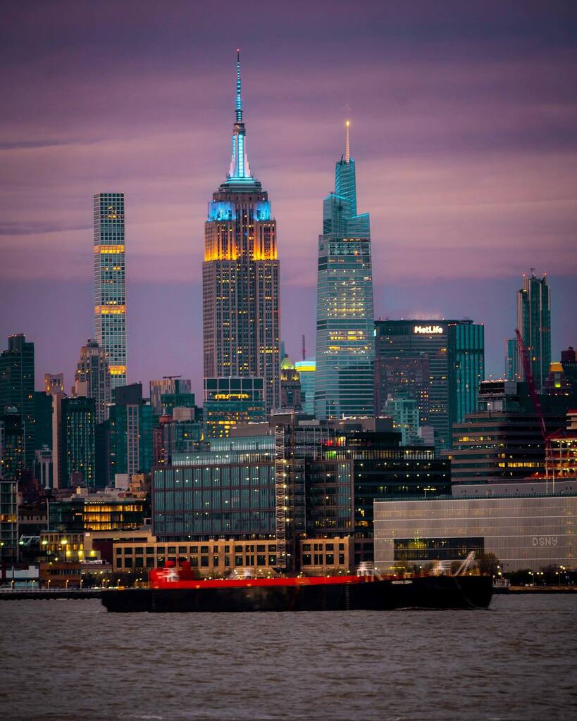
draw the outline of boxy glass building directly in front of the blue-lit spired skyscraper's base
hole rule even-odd
[[[204,379],[204,437],[222,438],[246,423],[262,423],[265,382],[262,378]]]

